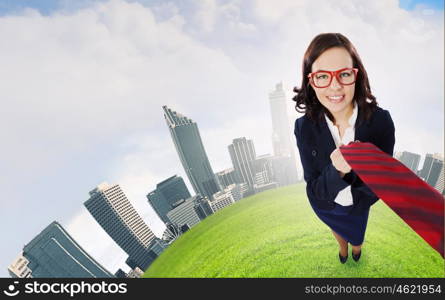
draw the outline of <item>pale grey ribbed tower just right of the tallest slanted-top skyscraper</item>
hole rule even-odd
[[[245,182],[253,190],[255,183],[253,162],[256,158],[253,141],[245,137],[237,138],[232,141],[228,148],[233,168],[239,180],[238,183]]]

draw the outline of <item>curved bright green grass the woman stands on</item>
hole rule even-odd
[[[351,250],[350,250],[351,251]],[[168,247],[144,277],[444,277],[444,260],[381,200],[371,207],[356,263],[338,244],[305,184],[268,190],[218,211]]]

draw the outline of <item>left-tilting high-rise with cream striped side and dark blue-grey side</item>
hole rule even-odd
[[[119,185],[99,184],[84,205],[131,261],[142,270],[151,264],[150,244],[155,236]]]

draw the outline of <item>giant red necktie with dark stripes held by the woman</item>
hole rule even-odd
[[[374,144],[351,142],[340,151],[374,194],[443,257],[444,197]]]

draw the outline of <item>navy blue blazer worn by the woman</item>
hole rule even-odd
[[[314,209],[333,209],[337,194],[348,185],[351,186],[353,215],[363,213],[379,199],[354,171],[342,178],[335,169],[330,155],[336,146],[324,117],[319,122],[310,120],[307,115],[298,118],[294,133],[303,165],[307,197]],[[392,156],[394,133],[394,123],[387,110],[377,107],[371,118],[365,121],[359,109],[354,140],[373,143]]]

